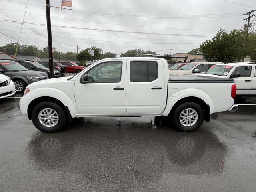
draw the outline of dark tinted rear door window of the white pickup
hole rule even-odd
[[[157,62],[130,62],[130,82],[151,82],[158,78]]]

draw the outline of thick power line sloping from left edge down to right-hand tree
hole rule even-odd
[[[14,21],[10,21],[10,20],[0,20],[0,21],[4,21],[4,22],[14,22]],[[46,24],[39,24],[39,23],[30,23],[30,22],[24,22],[24,23],[25,23],[25,24],[29,24],[29,25],[46,26]],[[71,26],[59,26],[59,25],[52,25],[52,27],[71,28],[71,29],[82,29],[82,30],[96,30],[96,31],[107,31],[107,32],[121,32],[121,33],[135,33],[135,34],[150,34],[150,35],[191,36],[191,37],[213,37],[213,35],[149,33],[149,32],[120,31],[120,30],[107,30],[107,29],[92,29],[92,28],[71,27]]]

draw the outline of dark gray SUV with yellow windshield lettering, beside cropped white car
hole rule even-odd
[[[16,61],[0,60],[0,73],[11,78],[16,92],[24,92],[30,83],[48,79],[48,75],[41,71],[30,71]]]

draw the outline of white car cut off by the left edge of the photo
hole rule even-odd
[[[15,86],[10,77],[0,74],[0,99],[15,93]]]

